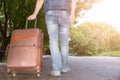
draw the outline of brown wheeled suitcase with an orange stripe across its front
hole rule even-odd
[[[40,76],[43,54],[43,33],[38,28],[18,29],[12,32],[7,56],[7,72],[35,72]]]

